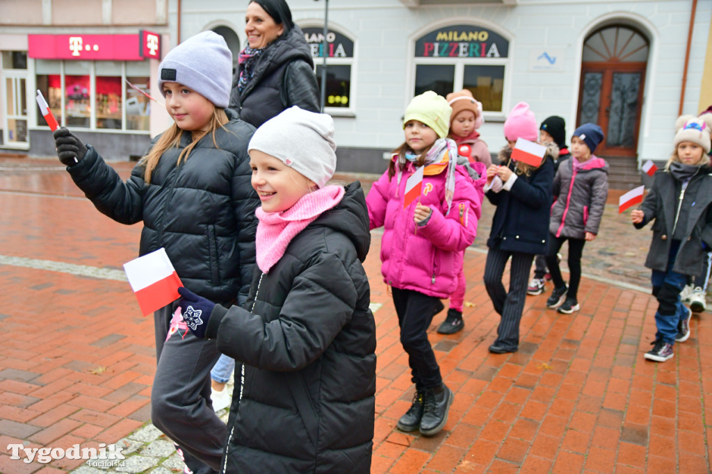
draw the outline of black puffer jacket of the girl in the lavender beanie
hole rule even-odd
[[[231,121],[203,137],[187,161],[178,155],[191,142],[184,132],[144,181],[139,163],[123,182],[98,152],[88,152],[68,172],[94,206],[120,223],[143,221],[140,255],[164,247],[189,290],[213,301],[246,299],[255,265],[255,209],[247,144],[254,128],[226,110]]]

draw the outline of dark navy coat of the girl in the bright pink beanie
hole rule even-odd
[[[535,255],[546,253],[557,150],[556,144],[548,147],[540,167],[530,176],[519,174],[510,191],[487,191],[487,199],[497,206],[487,239],[488,247]],[[503,166],[509,162],[509,168],[514,170],[515,163],[511,162],[510,157],[511,149],[504,147],[498,159]]]

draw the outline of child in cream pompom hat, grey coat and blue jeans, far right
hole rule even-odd
[[[690,337],[690,317],[680,300],[688,275],[703,275],[712,248],[712,181],[710,130],[712,115],[678,117],[675,150],[655,181],[642,209],[631,220],[642,228],[655,219],[645,266],[651,268],[657,332],[645,358],[665,362],[674,356],[675,341]]]

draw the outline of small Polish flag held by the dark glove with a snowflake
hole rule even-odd
[[[124,271],[144,316],[180,297],[183,283],[164,248],[124,263]]]

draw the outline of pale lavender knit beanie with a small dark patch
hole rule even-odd
[[[214,31],[203,31],[173,48],[158,66],[158,87],[179,83],[226,108],[232,88],[232,53],[225,39]]]

